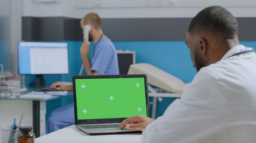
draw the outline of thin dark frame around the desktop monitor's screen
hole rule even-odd
[[[69,74],[70,73],[70,69],[68,67],[68,72],[67,73],[20,73],[20,54],[19,54],[19,43],[66,43],[66,42],[26,42],[26,41],[19,41],[17,42],[17,54],[18,54],[18,73],[20,75],[44,75],[44,74],[47,74],[47,75],[50,75],[50,74]],[[68,50],[68,43],[67,43],[67,50]],[[68,54],[68,53],[67,53]],[[68,59],[69,61],[69,59]],[[69,63],[69,62],[68,62]]]

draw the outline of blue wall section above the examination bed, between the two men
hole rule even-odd
[[[150,63],[185,83],[195,76],[185,41],[116,41],[114,44],[116,49],[135,51],[136,63]]]

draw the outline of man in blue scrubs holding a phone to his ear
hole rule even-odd
[[[87,75],[119,74],[116,48],[112,41],[104,35],[103,30],[101,30],[101,18],[95,13],[89,13],[82,18],[80,24],[82,29],[86,24],[91,26],[89,41],[95,43],[91,61],[88,58],[91,42],[86,46],[86,39],[84,38],[84,42],[80,48],[80,54]],[[56,82],[52,84],[51,88],[67,91],[72,90],[73,86],[65,86]],[[55,130],[65,128],[72,124],[74,124],[73,103],[52,111],[47,120],[46,133],[54,132]]]

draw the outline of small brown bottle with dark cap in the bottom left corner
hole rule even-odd
[[[18,143],[34,143],[35,133],[32,132],[31,126],[23,126],[19,130]]]

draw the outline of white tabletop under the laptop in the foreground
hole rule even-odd
[[[115,135],[88,135],[85,132],[77,129],[74,125],[67,128],[57,130],[56,132],[40,136],[35,139],[37,143],[50,143],[50,142],[140,142],[141,133],[124,133]]]

